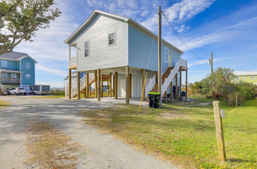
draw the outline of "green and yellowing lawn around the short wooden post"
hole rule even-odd
[[[119,136],[125,142],[183,167],[254,168],[256,166],[257,99],[242,107],[228,107],[223,118],[227,162],[217,160],[211,99],[164,103],[160,109],[117,104],[96,111],[83,111],[85,122]]]

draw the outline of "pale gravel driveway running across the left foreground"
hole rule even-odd
[[[85,144],[90,153],[80,155],[78,168],[176,168],[81,121],[85,117],[79,115],[80,110],[101,109],[112,103],[28,96],[0,99],[11,104],[0,109],[0,168],[27,168],[24,131],[35,119],[50,121],[72,141]]]

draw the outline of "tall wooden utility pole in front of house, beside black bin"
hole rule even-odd
[[[161,85],[161,8],[158,7],[158,93],[161,93]]]

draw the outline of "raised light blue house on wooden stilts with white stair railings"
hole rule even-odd
[[[157,91],[157,37],[131,18],[94,10],[88,19],[65,40],[65,44],[69,46],[69,71],[71,72],[71,69],[86,73],[100,71],[100,74],[105,77],[103,80],[106,81],[108,78],[109,84],[112,83],[111,89],[116,99],[118,97],[126,97],[126,100],[129,100],[127,97],[139,98],[142,92],[145,98],[148,92]],[[71,54],[72,48],[76,49],[76,54]],[[182,54],[183,51],[168,41],[161,40],[161,94],[163,97],[170,93],[171,85],[181,86],[181,71],[188,70],[187,60],[181,58]],[[143,90],[146,71],[148,74]],[[93,84],[93,81],[97,80],[95,78],[88,80],[89,84]],[[80,86],[77,84],[78,87],[69,86],[69,92],[71,92],[69,97],[76,96],[76,88],[80,90],[86,88],[84,81],[81,82]]]

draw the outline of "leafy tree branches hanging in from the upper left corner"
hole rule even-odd
[[[12,52],[22,40],[29,40],[39,29],[49,28],[61,15],[54,0],[1,0],[0,55]]]

